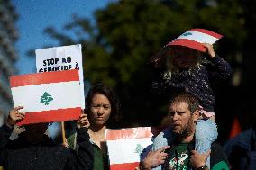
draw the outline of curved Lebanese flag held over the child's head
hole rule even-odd
[[[165,47],[168,46],[185,46],[191,49],[197,49],[202,52],[206,52],[206,48],[202,43],[214,44],[215,41],[221,39],[221,34],[214,31],[208,31],[205,29],[191,29],[184,32],[177,39],[172,40]]]

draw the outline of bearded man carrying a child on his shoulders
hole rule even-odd
[[[171,126],[154,139],[152,151],[142,161],[142,170],[226,170],[228,164],[223,149],[213,144],[211,150],[199,154],[194,150],[199,102],[188,93],[177,94],[169,103]],[[206,158],[211,154],[211,167]]]

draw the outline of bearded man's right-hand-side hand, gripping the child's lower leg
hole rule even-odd
[[[191,151],[191,156],[190,156],[190,166],[193,168],[198,168],[201,166],[206,165],[206,159],[210,155],[211,150],[208,150],[206,153],[200,154],[196,150]]]

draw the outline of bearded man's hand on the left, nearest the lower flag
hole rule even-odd
[[[147,157],[145,157],[144,160],[142,161],[141,170],[151,170],[151,168],[163,164],[166,157],[168,156],[168,154],[165,153],[164,150],[168,148],[170,147],[166,146],[159,148],[156,151],[149,152]]]

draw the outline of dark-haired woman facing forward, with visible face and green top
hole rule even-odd
[[[119,109],[120,103],[110,87],[102,84],[91,87],[86,98],[86,113],[90,122],[88,133],[95,154],[94,170],[109,169],[105,130],[116,126],[120,118]],[[78,148],[76,134],[69,137],[68,144],[70,148]]]

